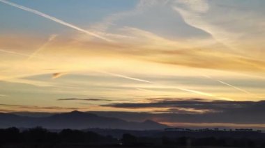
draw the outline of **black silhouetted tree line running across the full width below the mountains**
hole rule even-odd
[[[20,144],[16,146],[17,144]],[[48,144],[48,145],[47,145]],[[79,144],[87,147],[251,147],[264,148],[265,140],[250,138],[192,138],[192,137],[167,137],[166,135],[157,136],[135,136],[124,133],[122,138],[113,138],[111,135],[100,135],[92,131],[79,131],[73,129],[63,129],[59,132],[48,131],[42,127],[20,130],[15,127],[0,129],[0,147],[63,147]],[[15,145],[15,146],[14,146]],[[25,146],[26,145],[26,146]],[[33,146],[32,146],[33,145]],[[8,147],[9,147],[8,146]]]

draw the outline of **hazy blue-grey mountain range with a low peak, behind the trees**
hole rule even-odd
[[[60,113],[48,117],[26,117],[10,113],[0,113],[0,128],[10,126],[30,128],[43,126],[47,129],[131,129],[151,130],[165,129],[168,126],[146,120],[145,122],[128,122],[114,117],[102,117],[92,113],[73,111]]]

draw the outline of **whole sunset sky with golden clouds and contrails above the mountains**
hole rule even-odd
[[[0,111],[265,128],[264,6],[0,0]]]

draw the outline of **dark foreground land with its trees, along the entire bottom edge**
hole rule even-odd
[[[42,127],[0,129],[1,148],[83,148],[83,147],[265,147],[265,133],[238,130],[217,131],[129,131],[119,129],[63,129]]]

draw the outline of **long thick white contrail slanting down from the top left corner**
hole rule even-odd
[[[25,10],[25,11],[28,11],[28,12],[30,12],[30,13],[34,13],[34,14],[39,15],[39,16],[41,16],[41,17],[45,17],[45,18],[50,19],[50,20],[52,20],[52,21],[54,21],[54,22],[57,22],[57,23],[62,24],[62,25],[64,25],[64,26],[68,26],[68,27],[70,27],[70,28],[74,28],[74,29],[77,30],[77,31],[81,31],[82,33],[86,33],[86,34],[88,34],[88,35],[92,35],[92,36],[94,36],[94,37],[96,37],[96,38],[100,38],[100,39],[105,40],[105,41],[107,41],[107,42],[112,42],[112,40],[109,40],[109,39],[107,39],[107,38],[104,38],[103,36],[100,36],[100,35],[98,35],[98,34],[96,34],[96,33],[91,33],[90,31],[86,31],[86,30],[83,29],[83,28],[79,28],[78,26],[75,26],[75,25],[70,24],[70,23],[68,23],[68,22],[64,22],[64,21],[61,20],[61,19],[57,19],[57,18],[52,17],[52,16],[50,16],[50,15],[47,15],[47,14],[45,14],[45,13],[41,13],[41,12],[38,11],[38,10],[34,10],[34,9],[31,9],[31,8],[27,8],[27,7],[25,7],[25,6],[21,6],[21,5],[18,5],[17,3],[13,3],[13,2],[10,2],[10,1],[0,0],[0,2],[2,2],[2,3],[6,3],[6,4],[8,4],[8,5],[10,5],[10,6],[13,6],[13,7],[15,7],[15,8],[20,8],[20,9]]]

